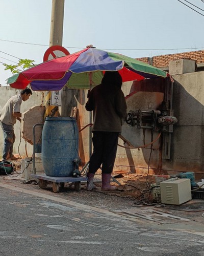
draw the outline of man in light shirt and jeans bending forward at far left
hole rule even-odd
[[[15,142],[13,126],[16,123],[16,120],[21,122],[21,102],[29,99],[31,94],[31,89],[25,88],[20,94],[15,95],[8,100],[0,113],[0,124],[4,133],[3,161],[18,159],[13,155],[13,144]]]

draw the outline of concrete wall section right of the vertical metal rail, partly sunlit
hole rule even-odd
[[[163,169],[204,173],[204,72],[174,75],[173,109],[178,119],[171,159]]]

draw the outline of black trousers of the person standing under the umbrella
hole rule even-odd
[[[102,173],[111,174],[115,163],[119,133],[93,132],[93,154],[89,162],[89,173],[95,174],[102,164]]]

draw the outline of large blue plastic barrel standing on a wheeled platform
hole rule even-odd
[[[47,176],[70,177],[79,159],[79,131],[75,118],[46,117],[42,129],[42,165]]]

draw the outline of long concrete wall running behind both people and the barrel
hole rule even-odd
[[[204,172],[204,72],[194,72],[173,76],[173,110],[174,116],[179,120],[174,125],[171,139],[170,159],[162,160],[161,148],[156,148],[152,152],[149,148],[142,150],[127,150],[118,147],[115,162],[116,169],[130,170],[132,172],[149,172],[156,170],[175,170],[176,172],[194,171]],[[155,85],[154,85],[155,86]],[[122,90],[124,95],[132,92],[132,83],[124,83]],[[0,88],[0,110],[6,101],[19,91],[10,87]],[[67,105],[62,111],[62,116],[68,116],[72,106],[78,107],[78,126],[83,129],[90,123],[89,113],[85,110],[87,101],[87,91],[64,89],[63,101]],[[27,111],[34,105],[41,104],[41,92],[33,92],[31,98],[22,102],[21,112]],[[25,156],[25,141],[20,139],[20,125],[17,121],[15,127],[16,142],[14,152],[18,153],[18,145],[21,140],[19,151],[20,155]],[[3,132],[0,129],[0,147],[3,145]],[[133,136],[136,136],[133,134]],[[145,137],[144,133],[144,137]],[[79,153],[83,164],[89,160],[89,127],[79,134],[80,148]],[[123,141],[119,139],[119,144]],[[33,148],[27,143],[27,152],[32,155]],[[0,155],[1,155],[0,150]],[[150,155],[151,154],[151,155]]]

